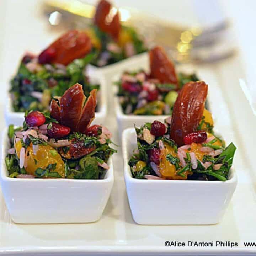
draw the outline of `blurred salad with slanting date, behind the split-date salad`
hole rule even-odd
[[[94,57],[91,48],[85,32],[70,30],[38,56],[25,54],[11,80],[14,111],[49,110],[52,97],[62,96],[76,82],[82,84],[86,96],[99,89],[85,74],[86,65]]]

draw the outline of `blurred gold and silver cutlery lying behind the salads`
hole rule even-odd
[[[91,23],[95,6],[79,0],[46,0],[43,14],[52,29],[84,29]],[[121,22],[135,27],[149,47],[159,44],[177,63],[214,63],[236,53],[228,20],[202,28],[185,27],[152,17],[136,9],[120,7]]]

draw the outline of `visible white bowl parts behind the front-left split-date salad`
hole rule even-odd
[[[95,112],[95,119],[92,124],[103,124],[107,115],[107,88],[104,76],[100,74],[90,75],[90,81],[95,84],[100,84],[100,90],[97,94],[97,112]],[[5,107],[5,121],[7,125],[14,124],[21,126],[24,121],[24,112],[15,112],[12,107],[11,94],[7,97]]]

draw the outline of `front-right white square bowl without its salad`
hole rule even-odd
[[[133,219],[143,225],[208,225],[219,223],[237,184],[234,169],[227,181],[140,180],[128,161],[137,148],[134,128],[122,135],[124,180]]]

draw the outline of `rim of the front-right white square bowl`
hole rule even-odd
[[[162,182],[165,183],[177,183],[177,184],[188,184],[188,185],[221,185],[224,184],[229,185],[233,183],[237,183],[237,175],[235,172],[234,167],[231,167],[230,169],[230,174],[229,174],[229,179],[226,181],[201,181],[201,180],[147,180],[147,179],[136,179],[132,177],[132,172],[130,170],[130,166],[128,165],[129,161],[129,152],[128,152],[128,144],[130,143],[130,140],[128,140],[128,135],[130,133],[134,133],[135,135],[135,130],[134,128],[127,128],[123,131],[122,133],[122,149],[123,149],[123,161],[124,161],[124,179],[125,181],[129,183],[154,183],[156,185],[162,184]]]

